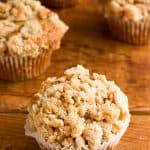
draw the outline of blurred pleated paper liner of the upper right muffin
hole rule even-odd
[[[117,17],[106,18],[112,36],[118,40],[144,45],[150,43],[150,20],[126,21]]]

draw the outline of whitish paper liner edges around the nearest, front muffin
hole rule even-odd
[[[129,126],[129,123],[130,123],[130,116],[125,120],[123,129],[117,135],[114,135],[108,142],[104,142],[99,147],[98,150],[112,150],[114,147],[116,147],[117,144],[119,143],[120,139],[122,138],[122,136],[125,134],[128,126]],[[24,128],[25,128],[25,135],[35,138],[37,143],[39,144],[41,150],[58,150],[56,148],[56,145],[45,142],[42,137],[40,137],[35,131],[33,131],[30,128],[28,120],[26,120],[26,124],[25,124]],[[66,150],[66,149],[62,149],[62,150]],[[73,150],[73,149],[70,148],[67,150]]]

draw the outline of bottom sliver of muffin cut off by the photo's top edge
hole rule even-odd
[[[72,7],[78,4],[78,0],[41,0],[44,5],[50,8]]]

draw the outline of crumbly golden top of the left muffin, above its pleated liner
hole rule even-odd
[[[0,55],[36,57],[58,49],[68,27],[35,0],[0,2]]]

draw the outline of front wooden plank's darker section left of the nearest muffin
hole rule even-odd
[[[34,139],[25,137],[25,114],[0,114],[0,150],[38,150]]]

